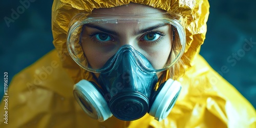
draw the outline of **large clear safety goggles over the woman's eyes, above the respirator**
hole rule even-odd
[[[101,73],[129,45],[139,67],[160,72],[172,67],[185,50],[185,31],[177,19],[161,14],[79,13],[67,35],[71,57],[83,69]],[[141,59],[143,55],[152,66]],[[113,59],[113,60],[109,60]]]

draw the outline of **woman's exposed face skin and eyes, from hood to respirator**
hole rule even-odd
[[[94,13],[144,14],[159,13],[160,9],[139,4],[129,4],[107,9],[95,9]],[[101,14],[102,15],[102,14]],[[90,17],[100,16],[92,14]],[[103,16],[103,15],[102,15]],[[154,18],[154,17],[152,17]],[[123,45],[131,45],[143,54],[155,69],[164,67],[171,51],[171,27],[164,23],[88,24],[83,27],[81,45],[94,69],[103,67]],[[98,74],[96,74],[98,76]]]

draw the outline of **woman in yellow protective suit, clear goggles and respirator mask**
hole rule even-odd
[[[255,127],[251,104],[198,54],[208,7],[207,1],[54,1],[56,50],[15,76],[9,124],[1,126]],[[166,116],[157,116],[153,97],[168,89],[175,95],[164,105]]]

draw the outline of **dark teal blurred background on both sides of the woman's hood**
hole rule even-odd
[[[54,49],[52,1],[33,1],[27,5],[20,1],[0,2],[0,73],[3,79],[4,72],[8,72],[9,83],[16,73]],[[256,44],[256,1],[209,3],[208,31],[200,54],[256,108],[256,45],[244,48],[248,41]],[[12,15],[14,10],[18,15]],[[225,72],[221,70],[223,67],[227,69]],[[3,86],[2,81],[1,97]]]

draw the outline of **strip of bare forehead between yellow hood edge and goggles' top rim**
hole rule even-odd
[[[129,5],[114,7],[114,8],[101,8],[94,9],[93,13],[112,13],[112,14],[148,14],[148,13],[160,13],[164,10],[153,8],[146,5],[140,5],[130,3]]]

